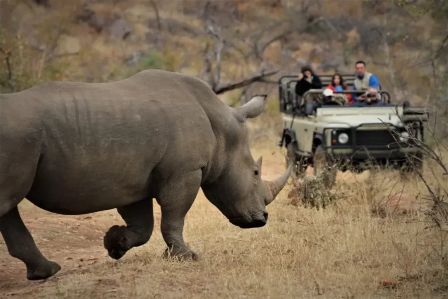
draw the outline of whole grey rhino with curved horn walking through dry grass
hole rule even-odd
[[[148,242],[155,198],[165,255],[197,260],[183,227],[200,187],[232,224],[265,225],[266,205],[291,172],[263,181],[261,157],[250,154],[245,120],[261,114],[265,99],[229,108],[203,81],[160,70],[0,95],[0,232],[8,252],[25,263],[28,280],[61,269],[23,224],[23,198],[65,215],[116,208],[126,226],[104,238],[114,259]]]

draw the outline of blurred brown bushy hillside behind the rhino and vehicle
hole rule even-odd
[[[446,0],[1,0],[1,93],[49,80],[105,82],[159,68],[217,86],[230,105],[305,64],[354,72],[363,59],[398,101],[447,112]],[[216,63],[221,61],[221,63]],[[218,67],[217,67],[218,65]],[[446,127],[446,126],[445,126]]]

